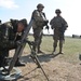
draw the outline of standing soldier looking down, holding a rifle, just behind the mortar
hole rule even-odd
[[[45,14],[42,12],[44,9],[44,5],[39,3],[37,5],[37,10],[32,12],[31,18],[33,18],[32,29],[33,29],[33,38],[35,38],[35,44],[33,44],[33,51],[38,53],[42,53],[40,50],[40,44],[42,42],[42,35],[43,35],[43,27],[49,23],[49,21],[45,18]]]

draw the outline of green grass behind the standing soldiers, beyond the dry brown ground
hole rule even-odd
[[[33,40],[32,36],[28,37],[29,40]],[[27,50],[28,45],[27,45]],[[41,43],[41,50],[45,54],[51,54],[53,51],[53,37],[43,36],[42,43]],[[63,48],[64,54],[58,55],[56,58],[65,62],[69,62],[72,64],[80,63],[79,60],[79,54],[81,54],[81,39],[77,38],[65,38],[65,43]],[[57,46],[58,52],[58,46]]]

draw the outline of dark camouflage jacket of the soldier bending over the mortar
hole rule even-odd
[[[0,50],[15,49],[17,40],[21,40],[21,38],[16,38],[16,32],[14,32],[11,23],[0,25]]]

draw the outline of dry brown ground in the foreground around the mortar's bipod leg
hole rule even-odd
[[[46,55],[45,55],[46,56]],[[39,56],[40,64],[44,69],[50,81],[81,81],[81,66],[70,64],[58,58],[46,58],[44,55]],[[18,67],[22,70],[22,77],[17,81],[46,81],[43,72],[28,56],[23,56],[26,63],[25,67]]]

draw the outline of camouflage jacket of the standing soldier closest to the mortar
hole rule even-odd
[[[32,28],[37,28],[37,27],[43,28],[44,21],[46,19],[43,14],[44,14],[43,12],[39,12],[38,10],[35,10],[32,12],[32,16],[31,16],[31,18],[33,18]]]

